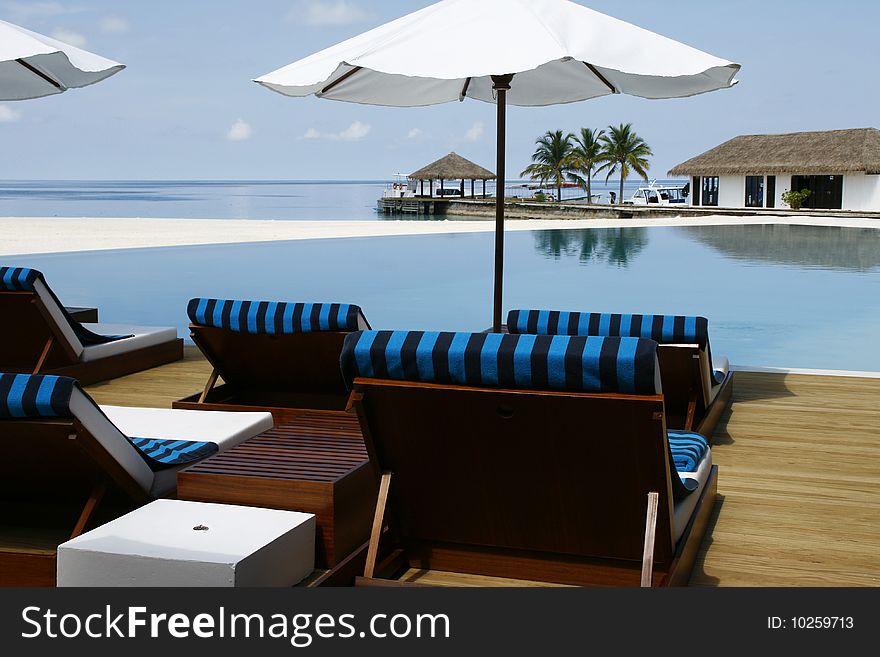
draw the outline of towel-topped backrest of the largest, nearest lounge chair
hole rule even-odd
[[[640,560],[672,558],[678,476],[655,342],[364,332],[346,339],[370,457],[393,472],[405,543]]]

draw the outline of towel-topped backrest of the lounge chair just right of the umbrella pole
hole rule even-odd
[[[685,315],[622,315],[558,310],[511,310],[507,330],[515,334],[595,335],[650,338],[660,347],[658,358],[667,395],[667,413],[686,414],[688,393],[700,391],[704,406],[715,384],[709,346],[709,320]]]

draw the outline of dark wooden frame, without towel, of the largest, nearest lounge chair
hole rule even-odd
[[[676,543],[662,395],[357,378],[351,406],[384,475],[357,584],[405,585],[398,578],[418,569],[638,586],[649,557],[647,583],[687,584],[717,467]]]

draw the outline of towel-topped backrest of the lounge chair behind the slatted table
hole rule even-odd
[[[346,394],[345,336],[367,329],[358,306],[197,298],[190,334],[223,380],[239,389]]]

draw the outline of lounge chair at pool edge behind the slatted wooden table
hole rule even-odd
[[[193,342],[213,371],[201,393],[174,408],[260,408],[271,410],[278,424],[298,409],[344,410],[342,342],[370,327],[358,306],[199,298],[187,314]]]

